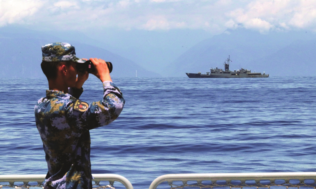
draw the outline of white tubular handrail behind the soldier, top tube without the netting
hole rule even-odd
[[[122,183],[126,189],[133,189],[133,186],[129,180],[127,180],[124,176],[116,175],[116,174],[92,174],[94,177],[93,181],[100,182],[102,180],[107,181],[118,181]],[[0,182],[43,182],[45,180],[46,175],[0,175]]]

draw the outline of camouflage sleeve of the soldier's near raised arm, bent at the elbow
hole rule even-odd
[[[94,129],[114,121],[123,110],[125,100],[119,88],[110,81],[103,82],[103,100],[93,102],[84,112],[86,126]]]

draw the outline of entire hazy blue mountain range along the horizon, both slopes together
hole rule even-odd
[[[186,77],[185,72],[205,73],[209,72],[211,67],[223,68],[228,55],[232,60],[230,70],[244,68],[252,72],[265,72],[270,76],[316,75],[316,35],[307,31],[270,31],[261,34],[243,28],[227,30],[200,41],[175,60],[170,60],[167,66],[164,67],[166,63],[160,67],[156,65],[155,69],[150,65],[144,66],[137,60],[143,56],[147,57],[148,62],[159,62],[160,56],[148,56],[145,52],[130,53],[127,59],[123,55],[110,52],[106,47],[93,45],[95,40],[90,40],[82,34],[78,34],[76,41],[76,34],[72,33],[71,39],[56,37],[52,32],[18,27],[0,28],[0,77],[45,77],[40,69],[40,47],[52,42],[67,42],[74,45],[79,58],[97,57],[112,62],[112,77],[135,77],[136,70],[137,77]],[[135,44],[131,51],[141,52],[141,49],[137,49],[137,46],[142,47],[142,42],[139,43]],[[165,51],[170,54],[172,46],[166,46]]]

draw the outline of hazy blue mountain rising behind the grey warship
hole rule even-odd
[[[230,55],[230,70],[241,67],[271,76],[316,75],[314,49],[316,35],[307,32],[229,30],[206,39],[183,53],[165,69],[165,76],[186,77],[185,72],[208,72],[223,68]]]

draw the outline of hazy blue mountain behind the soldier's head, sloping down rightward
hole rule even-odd
[[[112,77],[160,77],[135,62],[105,49],[76,41],[64,41],[44,32],[21,31],[19,28],[0,30],[0,77],[45,77],[40,68],[41,46],[52,42],[67,42],[75,46],[79,58],[97,57],[113,64]]]

